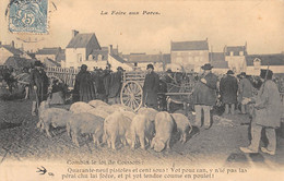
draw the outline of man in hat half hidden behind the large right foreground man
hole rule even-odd
[[[241,72],[239,74],[239,77],[240,81],[238,87],[239,87],[240,110],[241,113],[245,114],[248,111],[248,105],[242,100],[250,99],[252,97],[252,84],[247,79],[246,72]]]

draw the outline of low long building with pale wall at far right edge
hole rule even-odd
[[[260,69],[270,69],[274,74],[284,73],[284,53],[249,55],[246,62],[250,75],[259,75]]]

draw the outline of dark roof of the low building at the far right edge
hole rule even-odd
[[[247,65],[252,67],[255,59],[261,60],[261,65],[284,65],[284,55],[274,53],[274,55],[250,55],[246,57]]]

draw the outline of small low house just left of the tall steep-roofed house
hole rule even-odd
[[[61,49],[61,47],[43,48],[35,53],[35,58],[42,62],[45,62],[45,60],[48,59],[60,63],[62,60],[64,60],[64,55],[66,51],[64,49]]]

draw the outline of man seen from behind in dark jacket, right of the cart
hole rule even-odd
[[[235,114],[235,105],[237,104],[238,81],[234,76],[232,70],[227,71],[227,75],[221,79],[220,94],[222,102],[225,105],[225,114]]]

